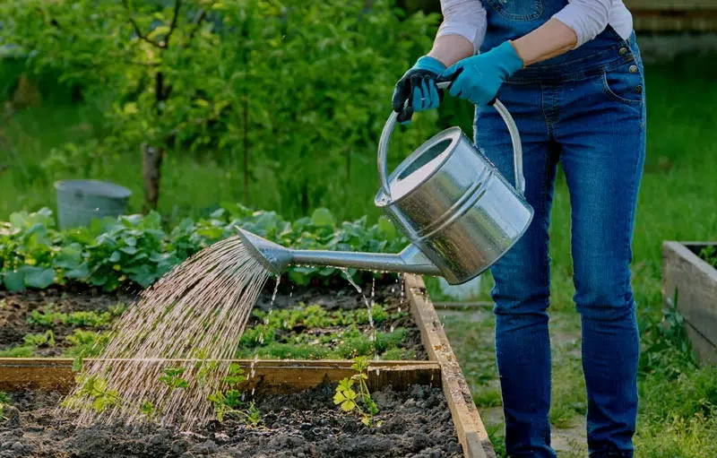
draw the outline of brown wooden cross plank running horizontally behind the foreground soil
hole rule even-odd
[[[117,364],[133,364],[138,359],[114,359]],[[85,364],[91,364],[86,359]],[[173,366],[187,359],[155,359],[152,362]],[[254,361],[236,359],[249,374]],[[3,358],[0,359],[0,391],[58,390],[66,392],[74,384],[72,359],[61,358]],[[254,364],[255,376],[243,389],[258,393],[290,393],[313,388],[324,381],[338,382],[356,372],[350,360],[270,360],[259,359]],[[396,391],[410,385],[441,385],[441,368],[435,361],[372,361],[368,368],[369,389],[392,386]]]

